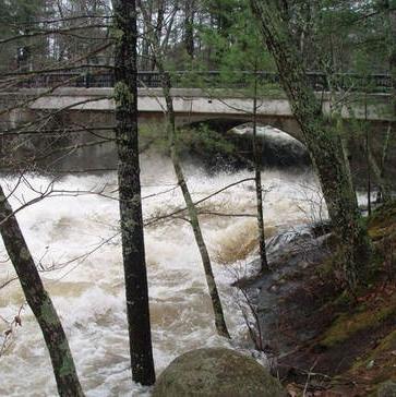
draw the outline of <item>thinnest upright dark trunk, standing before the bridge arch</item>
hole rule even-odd
[[[253,97],[253,157],[254,157],[254,182],[255,195],[257,207],[257,229],[259,229],[259,252],[261,272],[268,272],[268,260],[265,248],[265,230],[264,230],[264,215],[263,215],[263,188],[261,181],[260,170],[260,152],[257,147],[257,74],[256,68],[254,70],[254,97]]]

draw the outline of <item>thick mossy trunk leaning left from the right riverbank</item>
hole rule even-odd
[[[372,249],[348,178],[340,140],[309,86],[288,26],[281,19],[278,1],[250,0],[250,4],[317,171],[332,225],[340,242],[345,278],[353,290],[364,280]]]

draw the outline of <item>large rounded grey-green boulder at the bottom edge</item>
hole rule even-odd
[[[285,397],[280,383],[250,357],[233,350],[197,349],[175,359],[153,397]]]

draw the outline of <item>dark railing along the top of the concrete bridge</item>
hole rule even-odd
[[[219,71],[171,72],[172,84],[175,87],[185,88],[247,88],[254,80],[252,72],[235,72],[225,77]],[[256,72],[256,79],[261,86],[279,85],[279,75],[272,72]],[[308,72],[307,81],[314,91],[327,92],[355,91],[355,92],[388,92],[392,89],[392,79],[388,74],[359,75],[355,73],[336,73],[328,77],[321,72]],[[160,87],[160,74],[158,72],[140,71],[137,73],[140,87],[157,88]],[[64,72],[38,74],[26,77],[16,83],[16,88],[40,88],[40,87],[113,87],[115,77],[108,72]]]

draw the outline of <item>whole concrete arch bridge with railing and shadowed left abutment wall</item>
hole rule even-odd
[[[219,72],[197,73],[201,84],[196,82],[196,75],[189,73],[177,72],[176,77],[172,76],[176,88],[171,95],[178,125],[206,122],[217,131],[226,132],[252,120],[253,100],[245,89],[252,77],[251,72],[242,72],[241,76],[227,83],[227,87],[221,83]],[[160,133],[165,117],[160,76],[157,72],[140,72],[137,77],[140,122],[143,125],[154,124],[153,130]],[[352,119],[353,122],[367,120],[374,132],[372,135],[381,141],[389,121],[394,120],[388,75],[370,76],[370,89],[367,89],[365,81],[359,75],[339,75],[337,86],[333,86],[336,91],[333,96],[328,92],[326,75],[308,73],[307,77],[308,84],[322,101],[325,113],[336,111],[347,129],[352,124]],[[257,72],[256,79],[261,93],[257,121],[301,141],[300,128],[279,88],[278,75]],[[115,167],[112,85],[112,74],[87,72],[41,74],[27,80],[20,79],[15,84],[0,82],[0,149],[3,158],[14,156],[14,147],[23,157],[26,153],[35,155],[40,152],[40,147],[47,149],[53,144],[58,148],[84,146],[83,149],[68,153],[63,165],[59,166],[56,160],[58,168]],[[194,86],[211,88],[199,89]],[[365,94],[362,94],[363,88]],[[107,142],[101,143],[101,137],[107,139]],[[392,158],[396,158],[396,154]]]

